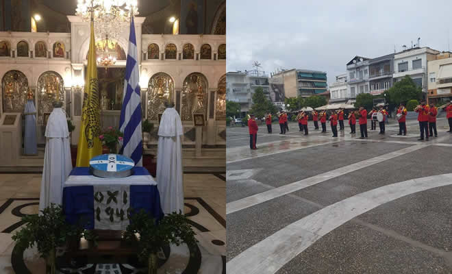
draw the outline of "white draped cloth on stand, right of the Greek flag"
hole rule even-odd
[[[164,214],[184,213],[181,136],[184,128],[174,108],[166,108],[158,129],[157,182]]]

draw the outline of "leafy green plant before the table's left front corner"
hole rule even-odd
[[[80,238],[81,228],[68,224],[61,206],[53,203],[42,210],[42,214],[25,215],[22,221],[26,223],[25,227],[12,239],[24,250],[36,245],[46,261],[46,274],[55,274],[56,248],[64,247],[73,238]]]

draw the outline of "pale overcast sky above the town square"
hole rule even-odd
[[[433,2],[435,4],[433,4]],[[411,47],[452,49],[452,1],[227,0],[227,71],[326,71],[328,82],[355,55]]]

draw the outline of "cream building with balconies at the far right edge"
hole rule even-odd
[[[427,63],[429,72],[427,101],[452,100],[452,53],[436,54],[436,59]]]

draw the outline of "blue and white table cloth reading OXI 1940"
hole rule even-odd
[[[157,182],[147,169],[135,166],[133,175],[101,178],[87,167],[76,167],[63,185],[63,210],[69,223],[88,223],[86,229],[124,230],[130,210],[143,209],[163,217]]]

